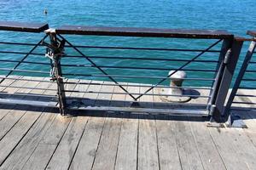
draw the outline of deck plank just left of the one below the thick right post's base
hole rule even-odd
[[[204,122],[189,122],[204,169],[226,169]]]

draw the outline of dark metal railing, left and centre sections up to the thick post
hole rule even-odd
[[[0,88],[9,87],[9,85],[3,84],[5,80],[56,82],[56,89],[37,87],[32,89],[55,90],[57,92],[56,96],[45,95],[49,97],[50,100],[48,101],[15,99],[14,95],[12,98],[9,98],[9,95],[7,95],[0,99],[1,103],[57,106],[60,108],[62,115],[66,115],[67,111],[72,109],[143,111],[173,115],[212,116],[217,122],[223,121],[224,101],[230,88],[230,82],[242,46],[242,41],[236,41],[229,32],[90,26],[61,26],[55,30],[47,29],[48,25],[42,24],[0,22],[0,30],[3,31],[45,31],[46,34],[42,36],[43,38],[38,43],[0,42],[0,45],[9,46],[9,48],[21,46],[26,49],[30,48],[28,52],[0,49],[0,54],[24,55],[21,59],[0,58],[2,65],[11,64],[10,67],[0,68],[1,75],[3,75],[0,77]],[[135,40],[132,40],[133,42],[143,41],[147,38],[151,38],[150,41],[147,40],[148,42],[154,42],[155,38],[158,38],[158,40],[164,39],[164,42],[168,43],[168,47],[155,48],[154,43],[153,47],[148,47],[148,45],[146,47],[131,47],[122,46],[118,43],[116,45],[103,46],[101,42],[99,42],[100,45],[82,45],[82,41],[75,41],[78,44],[73,42],[75,38],[91,36],[94,37],[94,41],[96,41],[96,38],[100,39],[102,37],[129,37],[135,38]],[[169,45],[172,45],[171,42],[177,41],[183,44],[180,45],[181,48],[169,47]],[[195,44],[195,46],[192,44]],[[198,45],[200,48],[192,48],[196,47],[196,44],[201,44]],[[184,46],[189,48],[184,48]],[[201,48],[202,46],[205,47]],[[41,48],[39,52],[36,50],[38,48]],[[43,52],[45,49],[46,53]],[[96,53],[96,50],[101,50],[101,54]],[[108,53],[104,54],[104,50],[108,50]],[[129,53],[125,53],[126,51],[129,51]],[[147,52],[148,56],[137,56],[141,51]],[[171,56],[174,54],[177,57],[170,57],[167,55],[168,53]],[[123,64],[119,65],[122,62]],[[155,65],[158,65],[160,62],[163,65],[156,67]],[[199,64],[201,68],[198,68]],[[38,70],[31,69],[28,65],[38,65],[34,67]],[[169,71],[172,71],[172,73],[169,73]],[[177,88],[167,85],[172,80],[172,75],[177,73],[177,71],[186,71],[188,73],[188,77],[183,78],[183,89],[189,93],[182,95],[160,93],[160,89]],[[49,77],[49,74],[50,80],[34,80],[26,77],[12,76]],[[90,81],[67,81],[73,78]],[[102,82],[96,82],[95,80]],[[101,90],[67,88],[67,86],[72,85],[101,87]],[[119,91],[106,91],[104,87],[117,87]],[[16,88],[27,87],[17,86]],[[130,88],[143,90],[131,91],[129,90]],[[77,95],[67,95],[67,93]],[[4,96],[3,93],[0,94]],[[129,96],[131,99],[128,102],[124,101],[128,103],[125,106],[92,105],[88,99],[79,97],[84,96],[84,94],[119,94]],[[147,96],[155,100],[144,101],[143,98]],[[176,103],[160,100],[165,96],[190,97],[191,102]],[[57,101],[52,101],[55,98]],[[109,102],[107,103],[109,104]]]

